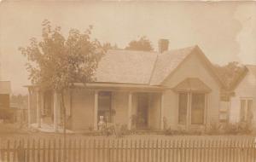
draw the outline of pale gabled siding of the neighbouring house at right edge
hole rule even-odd
[[[230,123],[240,121],[241,98],[253,99],[253,126],[256,127],[256,76],[248,71],[245,78],[237,85],[235,96],[230,98]]]

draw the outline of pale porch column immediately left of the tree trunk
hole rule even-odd
[[[54,130],[55,132],[58,131],[58,124],[59,124],[59,113],[60,109],[60,97],[59,94],[54,91]]]

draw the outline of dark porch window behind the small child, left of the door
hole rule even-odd
[[[103,116],[106,122],[110,123],[112,121],[111,98],[112,98],[111,92],[108,92],[108,91],[99,92],[98,120],[100,119],[100,116]]]

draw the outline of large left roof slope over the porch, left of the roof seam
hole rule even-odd
[[[148,84],[157,53],[111,49],[96,69],[96,82]]]

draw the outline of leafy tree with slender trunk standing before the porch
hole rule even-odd
[[[94,81],[94,72],[104,50],[97,40],[91,40],[92,26],[84,33],[70,30],[67,39],[61,34],[61,27],[53,28],[49,20],[44,20],[42,26],[42,40],[31,38],[30,44],[20,51],[27,58],[26,69],[32,84],[40,90],[54,90],[61,95],[66,139],[64,91],[73,83]]]

